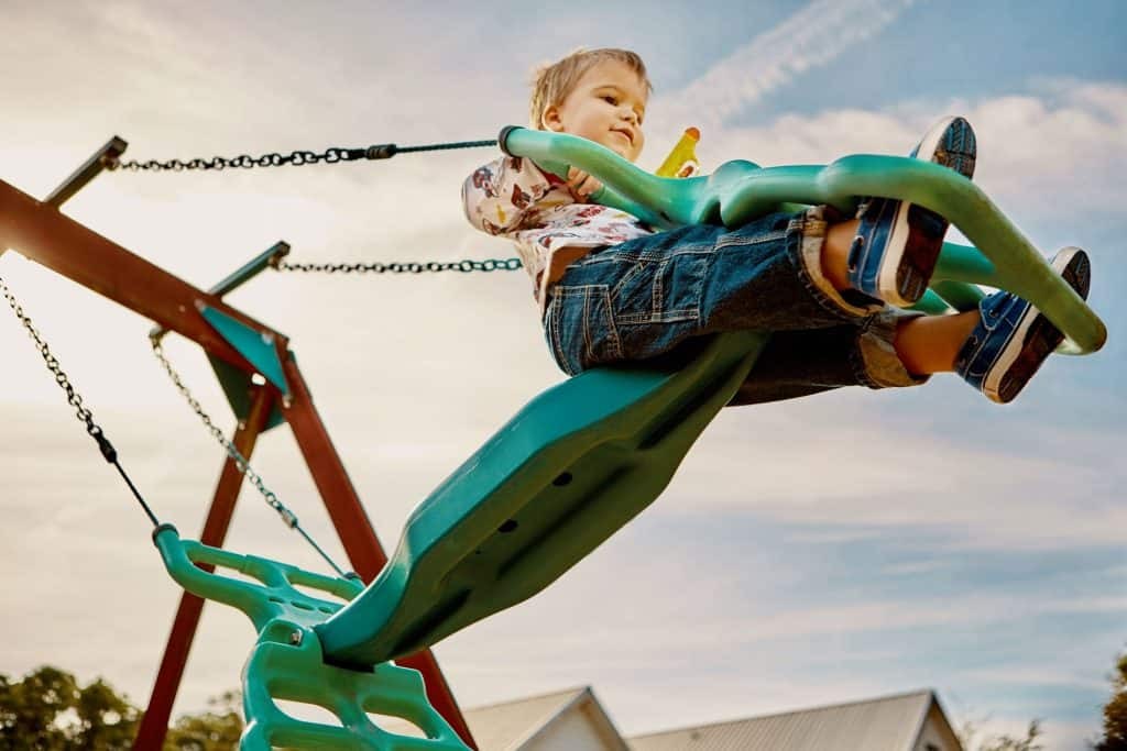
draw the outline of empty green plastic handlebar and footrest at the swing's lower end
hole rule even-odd
[[[295,749],[363,749],[366,751],[467,751],[453,728],[429,705],[416,670],[385,662],[364,670],[325,663],[312,626],[338,611],[363,584],[334,579],[267,558],[181,540],[176,528],[161,525],[153,540],[169,574],[184,589],[242,610],[258,631],[258,641],[242,671],[247,726],[245,751]],[[221,566],[249,579],[216,574],[201,566]],[[312,597],[304,587],[336,600]],[[278,701],[316,705],[339,724],[311,722],[286,714]],[[394,717],[425,737],[405,735],[401,725],[381,727],[370,715]]]

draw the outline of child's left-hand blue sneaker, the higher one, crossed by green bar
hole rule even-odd
[[[961,117],[937,123],[912,152],[970,179],[977,154],[975,132]],[[922,206],[895,198],[861,203],[861,220],[849,254],[850,284],[860,293],[907,307],[928,289],[948,221]]]

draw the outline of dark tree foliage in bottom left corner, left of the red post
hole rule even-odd
[[[19,681],[0,676],[0,749],[130,749],[141,713],[101,679],[79,686],[43,665]]]

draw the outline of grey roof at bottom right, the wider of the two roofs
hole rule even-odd
[[[921,690],[637,735],[628,742],[633,751],[911,751],[933,707],[934,694]],[[935,716],[946,724],[941,710]]]

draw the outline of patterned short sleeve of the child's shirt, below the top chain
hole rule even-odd
[[[502,234],[520,226],[551,187],[531,159],[504,157],[465,179],[462,208],[477,229]]]

